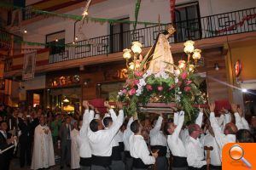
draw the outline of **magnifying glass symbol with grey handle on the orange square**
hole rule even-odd
[[[230,148],[230,157],[233,160],[236,160],[236,161],[241,160],[247,165],[247,167],[252,167],[252,164],[249,161],[247,161],[243,156],[244,156],[244,150],[241,148],[240,145],[234,144]]]

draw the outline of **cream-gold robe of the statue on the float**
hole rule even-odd
[[[170,48],[168,35],[160,34],[148,70],[151,70],[153,73],[160,71],[170,71],[173,73],[173,66],[166,64],[166,62],[173,64]]]

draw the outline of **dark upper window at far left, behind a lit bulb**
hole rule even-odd
[[[50,54],[65,53],[65,31],[46,35],[46,44],[50,48]]]

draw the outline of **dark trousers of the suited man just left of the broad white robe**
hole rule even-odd
[[[31,142],[20,142],[20,167],[31,165]]]

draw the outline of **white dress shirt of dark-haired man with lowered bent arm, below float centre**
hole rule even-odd
[[[148,146],[142,135],[131,135],[129,143],[131,157],[140,158],[145,165],[154,164],[154,156],[149,156]]]

